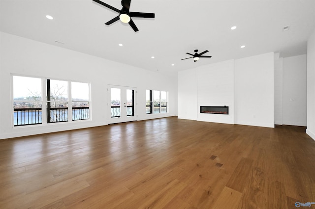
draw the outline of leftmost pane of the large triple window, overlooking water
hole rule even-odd
[[[13,125],[42,123],[41,78],[13,76]]]

